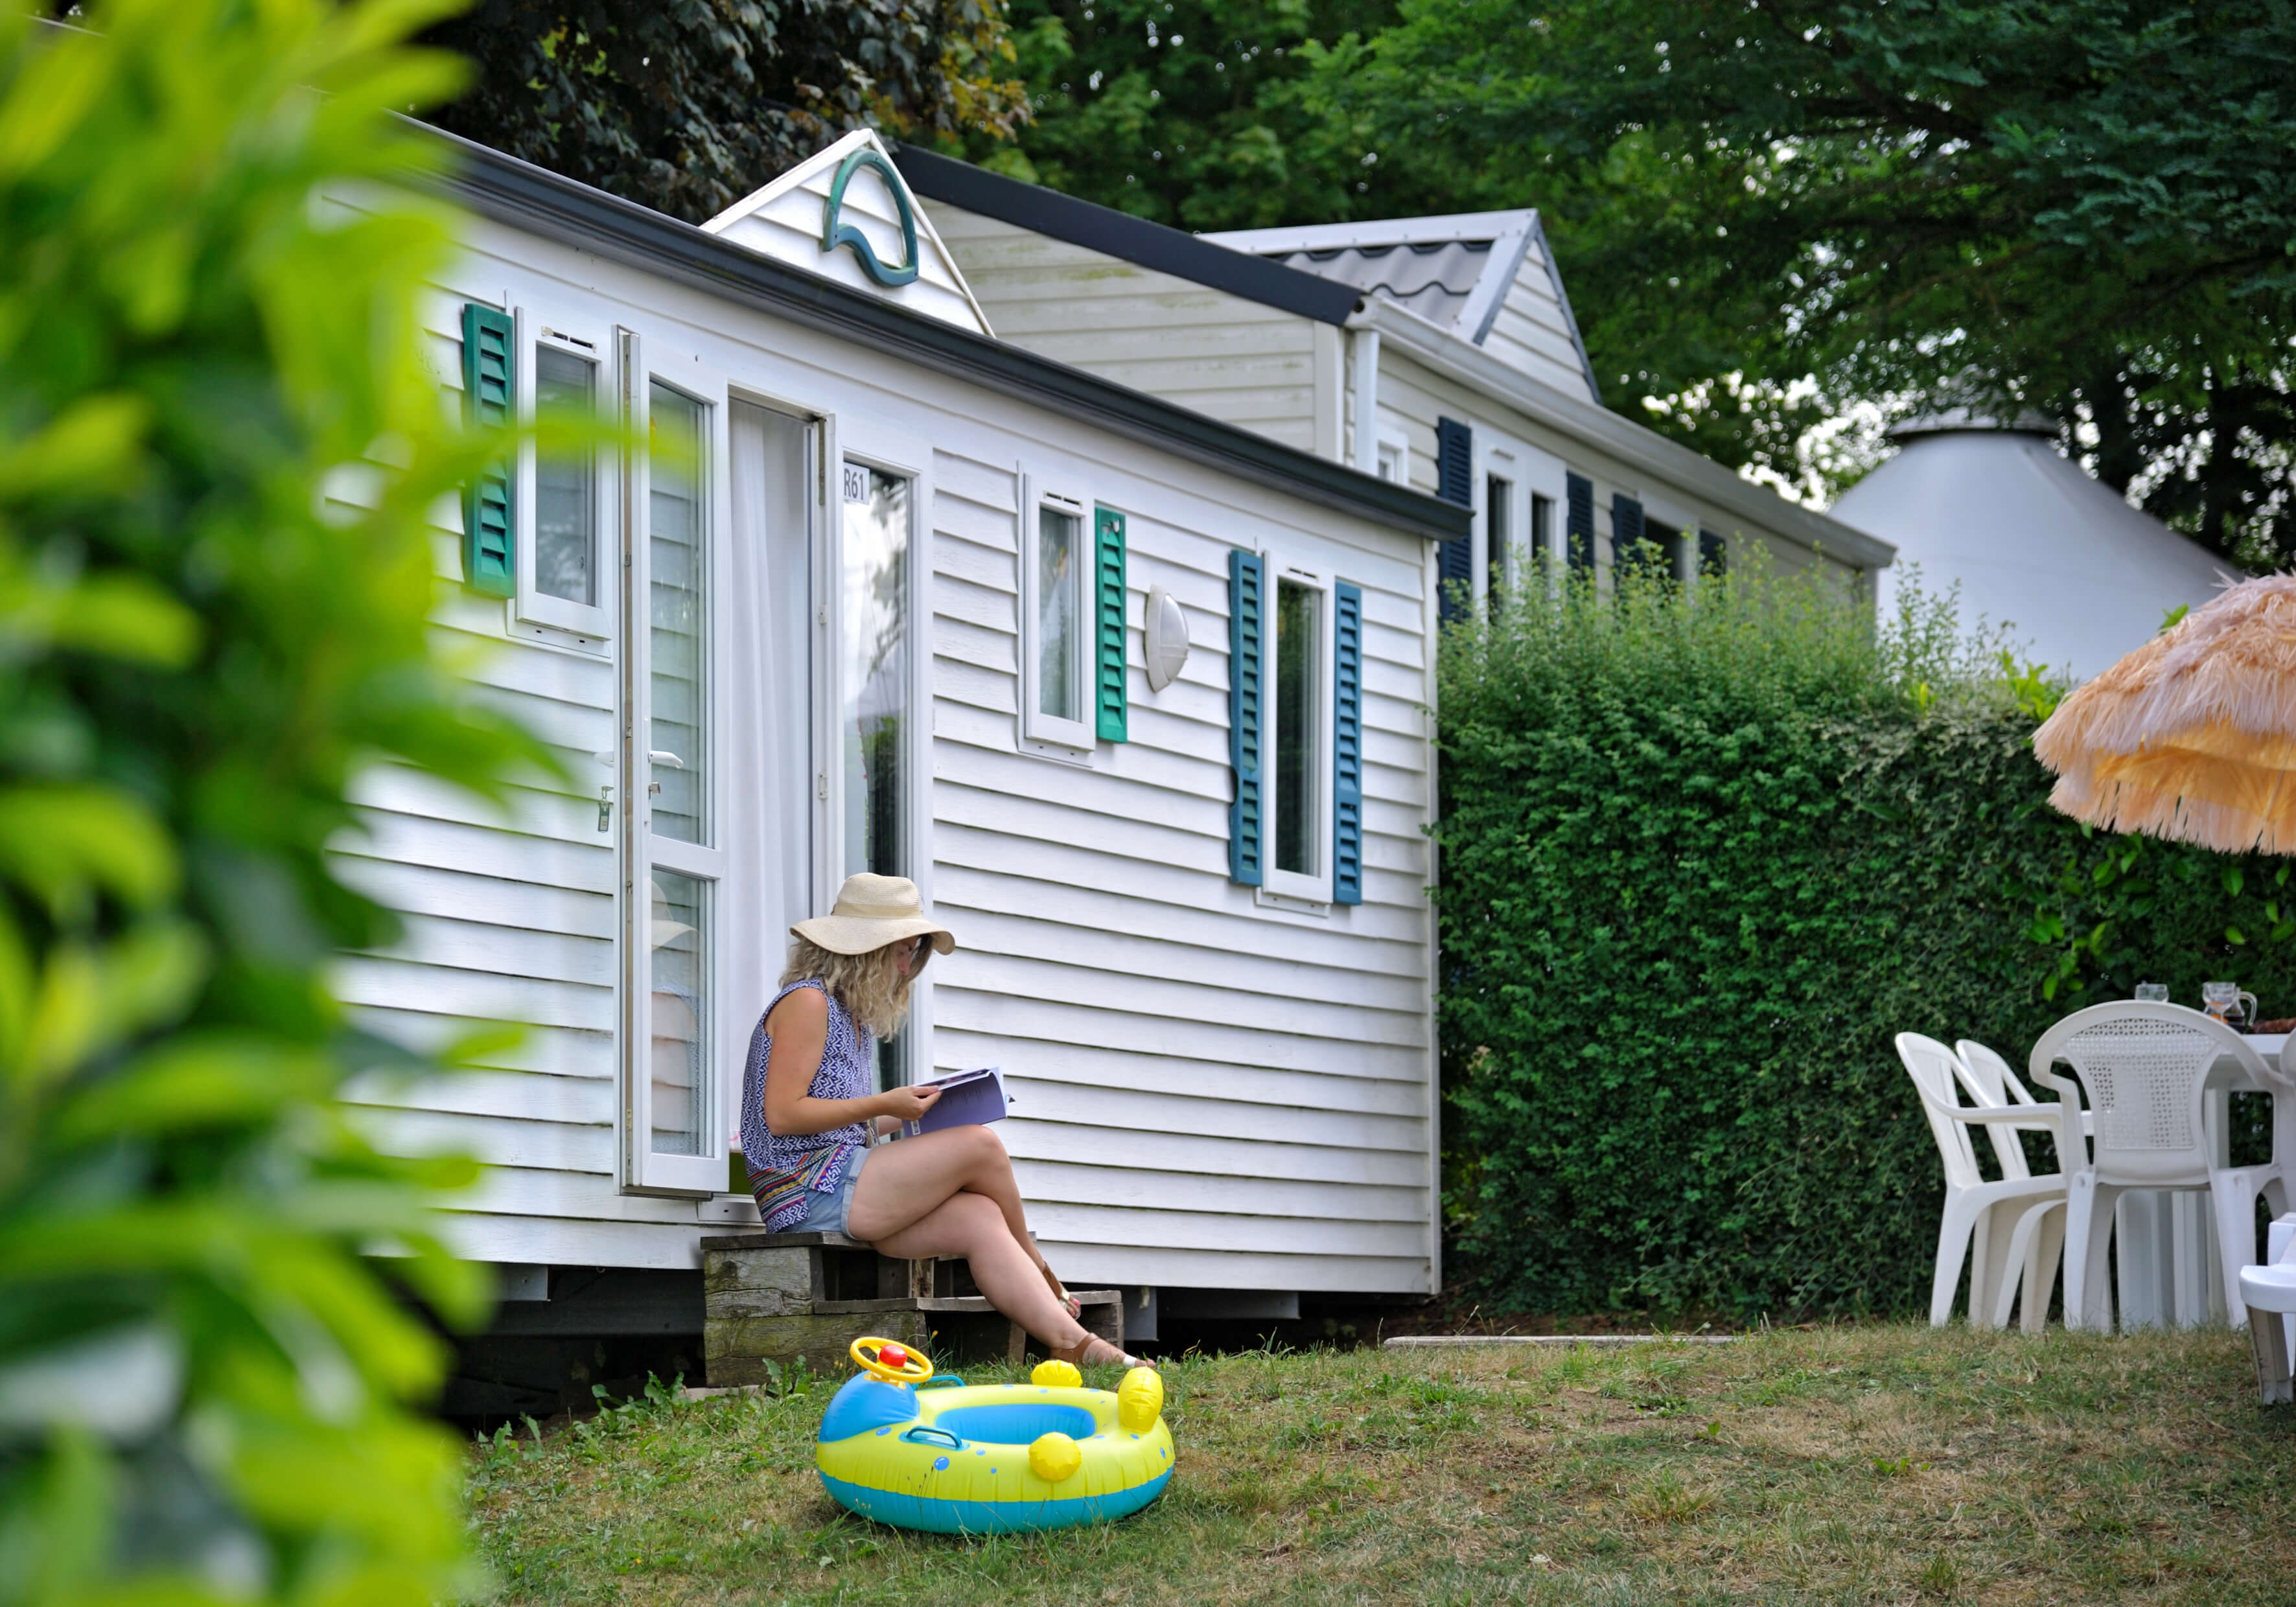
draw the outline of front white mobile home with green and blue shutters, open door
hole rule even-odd
[[[886,1074],[1006,1068],[1065,1279],[1435,1288],[1426,709],[1467,514],[999,340],[868,135],[712,230],[461,156],[441,386],[643,450],[528,452],[439,533],[441,641],[576,785],[494,813],[386,769],[344,843],[409,914],[342,964],[360,1019],[530,1028],[367,1095],[489,1162],[459,1247],[521,1292],[755,1224],[748,1031],[870,868],[960,937]]]

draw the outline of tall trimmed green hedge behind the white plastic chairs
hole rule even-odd
[[[1910,1313],[1936,1146],[1890,1040],[2023,1065],[2071,1008],[2296,1015],[2282,861],[2046,806],[2048,689],[1949,613],[1630,588],[1442,645],[1446,1212],[1511,1309]]]

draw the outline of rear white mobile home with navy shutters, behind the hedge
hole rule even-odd
[[[902,174],[1006,340],[1472,510],[1444,581],[1529,553],[1674,574],[1759,544],[1864,590],[1892,549],[1600,404],[1536,211],[1182,234],[932,152]]]

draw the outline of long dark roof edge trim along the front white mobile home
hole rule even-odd
[[[579,250],[675,278],[714,296],[804,324],[843,340],[953,374],[999,395],[1019,397],[1100,425],[1293,496],[1336,507],[1435,542],[1463,539],[1467,512],[1343,464],[1267,441],[1159,397],[1130,390],[969,328],[909,312],[833,280],[705,234],[620,195],[592,191],[517,156],[489,152],[450,133],[457,172],[441,184],[459,202],[498,223],[530,230]]]

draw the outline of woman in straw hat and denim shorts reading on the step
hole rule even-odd
[[[1061,1361],[1134,1359],[1077,1322],[1079,1306],[1022,1219],[1013,1157],[987,1127],[900,1143],[872,1134],[916,1120],[939,1088],[870,1093],[872,1049],[909,1012],[909,985],[957,946],[925,918],[907,877],[847,877],[829,916],[790,927],[781,992],[748,1038],[742,1155],[774,1233],[850,1233],[882,1256],[964,1256],[990,1304]]]

